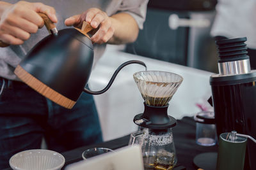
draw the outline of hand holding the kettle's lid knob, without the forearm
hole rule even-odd
[[[65,24],[67,26],[74,25],[81,29],[83,21],[90,23],[95,29],[99,26],[99,30],[91,38],[93,43],[106,43],[110,38],[112,38],[115,32],[111,18],[108,17],[104,11],[101,11],[98,8],[90,8],[80,15],[74,15],[67,18],[67,20],[65,20]]]

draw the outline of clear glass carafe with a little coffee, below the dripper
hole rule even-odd
[[[140,145],[145,170],[171,170],[177,163],[172,129],[141,128],[131,134],[129,145]]]

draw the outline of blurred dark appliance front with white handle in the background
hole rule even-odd
[[[144,28],[125,52],[218,72],[210,36],[216,0],[151,0]]]

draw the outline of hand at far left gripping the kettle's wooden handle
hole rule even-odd
[[[45,13],[52,22],[57,22],[55,10],[42,3],[19,1],[16,4],[0,4],[0,40],[10,45],[20,45],[44,26],[38,12]]]

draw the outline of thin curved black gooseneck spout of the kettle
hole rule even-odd
[[[104,89],[102,89],[102,90],[100,90],[100,91],[97,91],[97,92],[93,92],[93,91],[91,91],[91,90],[88,90],[88,89],[85,89],[85,88],[84,88],[84,92],[86,92],[86,93],[88,93],[88,94],[93,94],[93,95],[102,94],[102,93],[106,92],[106,91],[109,89],[109,87],[111,87],[111,85],[112,85],[113,81],[115,80],[116,75],[119,73],[119,71],[120,71],[123,67],[125,67],[125,66],[127,66],[127,65],[129,65],[129,64],[140,64],[140,65],[144,66],[145,69],[147,70],[147,66],[146,66],[146,64],[145,64],[144,62],[142,62],[142,61],[140,61],[140,60],[129,60],[129,61],[124,62],[123,64],[121,64],[121,65],[116,69],[115,73],[113,74],[113,76],[112,76],[111,79],[109,80],[108,85],[107,85]]]

